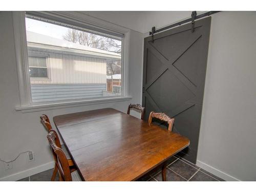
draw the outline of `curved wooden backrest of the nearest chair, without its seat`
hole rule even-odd
[[[54,152],[59,172],[64,181],[72,181],[69,162],[65,153],[57,146],[57,143],[55,142],[56,138],[58,138],[57,133],[54,130],[50,130],[49,135],[47,135],[47,139]]]

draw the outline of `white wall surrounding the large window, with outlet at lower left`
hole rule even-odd
[[[18,180],[53,167],[53,158],[46,140],[47,132],[39,121],[40,114],[45,113],[52,120],[56,115],[100,108],[115,108],[126,112],[130,102],[141,102],[143,36],[141,33],[131,31],[129,73],[132,78],[129,89],[132,100],[33,113],[16,112],[14,108],[19,103],[19,94],[12,13],[0,12],[0,24],[0,158],[6,161],[12,160],[20,152],[28,150],[33,151],[35,155],[35,160],[31,162],[27,161],[27,155],[20,155],[13,162],[13,168],[9,170],[4,170],[4,164],[0,162],[0,180]],[[139,114],[133,113],[133,115],[139,117]]]

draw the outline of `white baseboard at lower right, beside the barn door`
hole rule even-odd
[[[210,165],[207,165],[206,163],[203,163],[202,161],[198,161],[197,160],[197,165],[205,170],[207,170],[207,172],[216,175],[217,177],[224,179],[225,181],[240,181],[237,178],[234,178],[224,172],[222,172],[221,170],[214,168]]]

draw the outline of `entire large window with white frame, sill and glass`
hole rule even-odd
[[[79,12],[16,11],[12,17],[20,100],[16,111],[132,98],[130,30]]]

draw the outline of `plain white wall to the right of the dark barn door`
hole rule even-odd
[[[256,12],[211,20],[198,163],[228,180],[256,180],[255,20]]]

